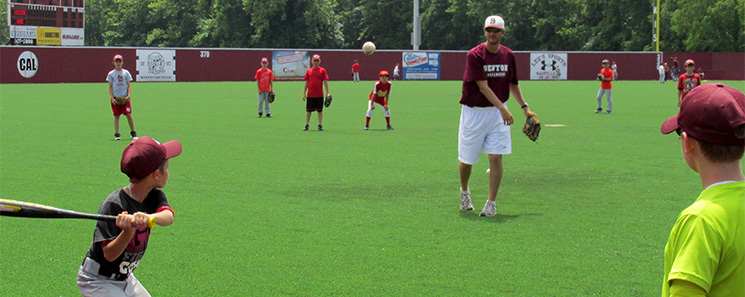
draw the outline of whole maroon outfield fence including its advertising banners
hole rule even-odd
[[[135,47],[0,46],[0,83],[104,82],[121,54],[135,81],[252,81],[262,57],[271,60],[279,80],[302,80],[310,57],[321,55],[330,80],[352,80],[359,62],[362,80],[377,80],[381,70],[402,66],[405,79],[461,80],[467,51],[227,49]],[[682,68],[694,59],[706,79],[745,80],[745,53],[685,52],[529,52],[515,51],[520,80],[593,80],[608,59],[621,80],[657,80],[659,63],[677,57]]]

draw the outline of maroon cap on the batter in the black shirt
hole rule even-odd
[[[181,154],[181,143],[171,140],[160,143],[143,136],[129,143],[122,153],[122,172],[129,177],[142,179],[157,170],[163,161]]]

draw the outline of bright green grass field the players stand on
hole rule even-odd
[[[745,90],[745,82],[726,82]],[[614,83],[595,114],[595,81],[522,82],[546,127],[512,128],[498,215],[461,211],[460,82],[394,82],[395,131],[373,82],[331,81],[318,132],[301,131],[302,83],[277,82],[257,118],[254,82],[134,83],[137,132],[177,139],[164,188],[176,222],[153,230],[136,275],[153,296],[655,296],[678,213],[701,190],[660,125],[672,82]],[[107,85],[0,85],[0,197],[96,212],[127,184]],[[126,119],[122,134],[127,135]],[[76,296],[88,220],[0,217],[0,296]]]

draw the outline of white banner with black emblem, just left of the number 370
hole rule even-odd
[[[176,81],[176,50],[137,50],[137,81]]]

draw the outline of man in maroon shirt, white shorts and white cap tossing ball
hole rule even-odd
[[[497,213],[495,199],[502,181],[502,155],[512,153],[510,125],[514,123],[507,109],[510,93],[526,117],[535,115],[523,98],[517,82],[515,55],[501,45],[504,20],[489,16],[484,22],[486,42],[468,52],[463,74],[463,105],[458,129],[458,172],[460,174],[460,208],[473,210],[468,180],[479,154],[489,155],[489,198],[481,216]]]

